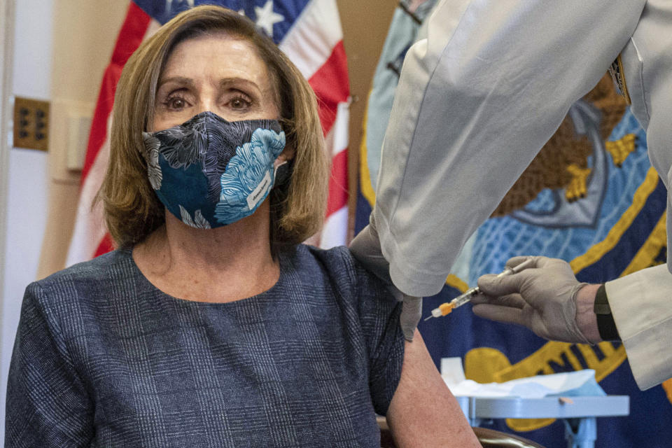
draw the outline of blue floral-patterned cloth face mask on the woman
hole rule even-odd
[[[142,137],[159,200],[183,223],[201,229],[253,214],[275,183],[274,163],[285,148],[277,120],[230,122],[212,112]]]

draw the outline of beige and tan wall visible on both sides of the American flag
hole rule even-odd
[[[351,191],[365,101],[389,22],[393,0],[337,0],[348,56]],[[50,200],[38,278],[64,267],[77,209],[80,172],[66,167],[69,117],[92,116],[103,71],[125,17],[128,0],[54,0]],[[352,198],[353,199],[353,198]],[[351,211],[354,202],[351,200]],[[350,220],[350,233],[353,220]]]

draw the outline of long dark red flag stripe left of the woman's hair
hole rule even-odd
[[[91,123],[91,132],[86,147],[86,158],[82,169],[80,182],[84,183],[89,174],[98,151],[107,138],[107,120],[114,103],[114,92],[121,76],[121,71],[128,58],[139,47],[147,32],[151,18],[134,2],[130,3],[124,25],[119,31],[119,37],[112,52],[110,64],[105,69],[102,85],[98,94],[96,109]]]

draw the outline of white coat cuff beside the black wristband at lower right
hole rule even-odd
[[[666,265],[605,283],[633,377],[643,391],[672,378],[672,274]]]

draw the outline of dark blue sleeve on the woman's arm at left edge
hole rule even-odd
[[[85,447],[94,434],[92,404],[44,295],[33,283],[24,296],[8,377],[5,446]]]

